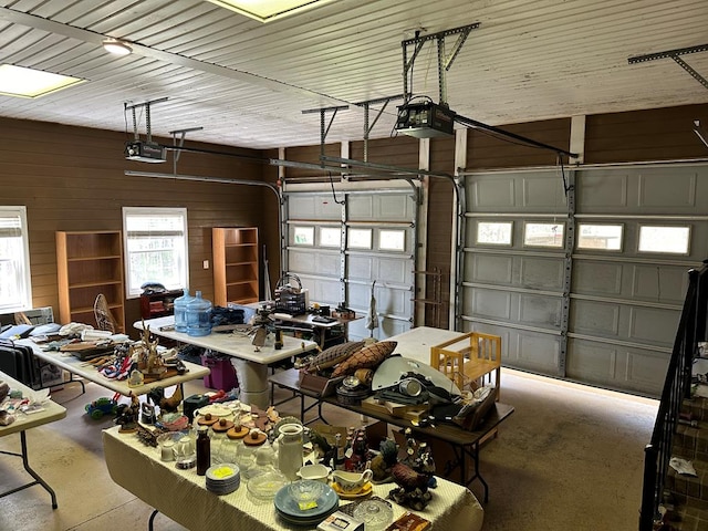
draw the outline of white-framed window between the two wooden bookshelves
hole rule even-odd
[[[139,296],[146,282],[188,288],[186,208],[124,207],[123,233],[128,299]]]

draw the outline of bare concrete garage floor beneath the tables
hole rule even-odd
[[[0,530],[147,529],[152,508],[115,485],[103,461],[101,430],[112,426],[111,419],[96,421],[84,414],[85,404],[111,393],[95,384],[86,389],[81,395],[79,384],[69,384],[53,392],[66,418],[28,431],[30,464],[56,491],[59,509],[52,510],[39,486],[0,498]],[[185,389],[187,395],[202,391],[200,382]],[[656,400],[511,369],[502,371],[501,397],[516,412],[481,451],[480,468],[490,487],[485,531],[637,528],[644,446]],[[293,414],[295,403],[279,410]],[[345,426],[358,421],[330,406],[325,416]],[[19,448],[17,435],[0,439],[0,450]],[[0,491],[28,479],[19,458],[0,456]],[[481,499],[478,482],[471,490]],[[155,529],[184,530],[164,516]]]

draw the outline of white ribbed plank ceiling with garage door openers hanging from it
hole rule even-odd
[[[708,43],[706,0],[337,0],[267,24],[205,0],[2,0],[0,63],[87,82],[0,96],[0,116],[133,133],[125,103],[167,97],[150,105],[153,134],[204,127],[187,139],[271,148],[319,144],[320,114],[302,111],[348,104],[326,139],[356,140],[364,112],[353,104],[403,93],[402,41],[475,22],[445,76],[464,116],[501,125],[708,103],[671,59],[627,62]],[[106,37],[134,53],[110,55]],[[708,77],[708,52],[681,59]],[[435,41],[415,61],[413,92],[439,100]],[[392,134],[399,103],[372,138]]]

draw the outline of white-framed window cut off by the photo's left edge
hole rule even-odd
[[[0,207],[0,311],[32,308],[25,207]]]

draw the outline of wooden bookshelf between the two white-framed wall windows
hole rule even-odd
[[[103,293],[121,332],[125,332],[123,239],[121,231],[56,232],[59,315],[97,326],[93,304]]]

